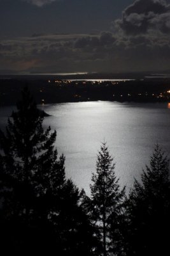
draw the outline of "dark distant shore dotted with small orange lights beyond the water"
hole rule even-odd
[[[66,78],[66,77],[65,77]],[[80,78],[80,77],[79,77]],[[0,106],[15,104],[28,86],[37,104],[110,100],[118,102],[170,102],[170,78],[59,79],[37,76],[0,79]]]

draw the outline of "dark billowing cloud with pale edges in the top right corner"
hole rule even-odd
[[[136,0],[115,21],[126,35],[139,35],[159,31],[170,33],[170,5],[162,0]]]

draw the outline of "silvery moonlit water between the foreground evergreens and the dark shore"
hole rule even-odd
[[[44,126],[57,130],[56,146],[66,156],[66,175],[89,194],[101,142],[107,141],[120,184],[131,188],[149,163],[155,143],[170,156],[169,104],[76,102],[41,106],[52,115]],[[0,108],[1,126],[11,107]]]

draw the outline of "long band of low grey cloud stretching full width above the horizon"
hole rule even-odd
[[[34,35],[0,41],[0,69],[116,72],[169,67],[169,35],[103,31],[97,35]]]

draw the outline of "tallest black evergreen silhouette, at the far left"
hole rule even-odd
[[[49,242],[46,248],[50,250],[48,214],[52,198],[57,200],[66,180],[64,156],[57,159],[53,145],[56,131],[50,127],[44,131],[42,122],[43,116],[25,88],[17,111],[8,119],[6,134],[1,132],[1,220],[8,223],[13,237],[10,249],[17,252],[28,253],[34,241],[38,250]],[[34,234],[39,234],[36,239],[32,239]]]

